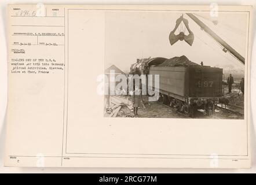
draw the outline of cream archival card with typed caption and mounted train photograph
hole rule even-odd
[[[255,12],[240,4],[6,6],[3,165],[255,168]],[[141,177],[125,180],[97,183]]]

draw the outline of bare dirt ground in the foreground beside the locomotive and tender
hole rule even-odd
[[[129,97],[126,97],[129,98]],[[148,97],[144,96],[143,102],[145,108],[142,106],[138,109],[138,116],[134,116],[127,106],[122,106],[116,117],[159,117],[159,118],[182,118],[191,119],[180,112],[177,112],[173,108],[163,105],[159,102],[148,102]],[[229,110],[217,108],[213,116],[204,116],[201,112],[196,112],[194,119],[243,119],[244,116],[239,113],[235,113]]]

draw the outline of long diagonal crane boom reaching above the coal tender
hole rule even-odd
[[[196,22],[205,32],[207,32],[209,35],[211,35],[218,43],[220,43],[221,46],[223,46],[226,50],[228,50],[233,56],[235,56],[240,62],[243,64],[245,63],[244,57],[241,56],[233,47],[228,45],[220,36],[215,34],[214,31],[212,31],[207,25],[205,25],[202,21],[199,20],[198,17],[194,16],[192,13],[186,13],[190,18],[192,18],[193,21]]]

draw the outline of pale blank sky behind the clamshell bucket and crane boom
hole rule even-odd
[[[236,58],[224,53],[220,45],[186,14],[184,18],[188,20],[189,28],[195,35],[193,45],[189,46],[185,41],[179,40],[171,46],[169,34],[181,15],[182,13],[170,12],[106,13],[105,68],[114,64],[127,72],[130,65],[136,62],[136,58],[172,58],[184,55],[198,64],[203,61],[204,65],[243,69],[243,65]],[[219,13],[217,25],[213,24],[209,13],[196,13],[195,16],[245,57],[245,13]],[[185,34],[187,33],[186,31]]]

